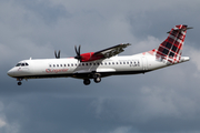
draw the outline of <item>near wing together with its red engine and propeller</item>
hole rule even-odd
[[[77,49],[76,47],[77,57],[74,58],[78,59],[80,62],[89,62],[89,61],[107,59],[107,58],[111,58],[113,55],[117,55],[123,52],[124,51],[123,49],[127,48],[128,45],[131,45],[131,44],[130,43],[117,44],[114,47],[111,47],[111,48],[108,48],[98,52],[88,52],[88,53],[82,53],[82,54],[80,54],[80,47],[79,49]]]

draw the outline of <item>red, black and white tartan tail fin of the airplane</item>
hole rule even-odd
[[[169,31],[168,38],[159,45],[156,51],[156,57],[158,60],[167,60],[170,63],[179,62],[182,54],[182,47],[184,43],[184,38],[188,25],[176,25],[171,31]]]

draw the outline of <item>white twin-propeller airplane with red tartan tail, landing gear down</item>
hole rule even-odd
[[[76,57],[60,58],[60,51],[54,51],[56,59],[22,60],[17,63],[8,75],[17,79],[18,85],[22,80],[43,78],[76,78],[82,79],[84,85],[101,82],[101,78],[122,74],[139,74],[162,69],[173,64],[189,61],[189,57],[181,57],[182,47],[188,29],[186,24],[179,24],[171,29],[168,38],[158,47],[133,55],[118,55],[130,43],[121,43],[114,47],[97,51],[80,53],[74,47]]]

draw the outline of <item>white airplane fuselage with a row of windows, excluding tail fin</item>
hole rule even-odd
[[[180,62],[188,60],[188,57],[181,58]],[[144,55],[142,53],[128,57],[112,57],[91,62],[79,62],[74,58],[67,58],[23,60],[19,63],[24,65],[12,68],[8,72],[10,76],[17,79],[64,76],[92,79],[88,74],[100,73],[102,78],[116,74],[137,74],[170,65],[164,61],[157,61],[154,55]]]

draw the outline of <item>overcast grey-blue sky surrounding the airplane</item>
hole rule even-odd
[[[0,133],[199,133],[199,0],[0,0]],[[76,79],[23,81],[20,60],[74,57],[119,43],[121,54],[157,48],[177,24],[186,63],[83,85]]]

